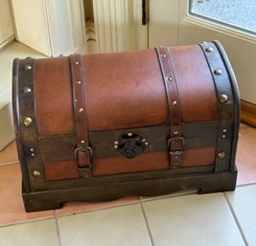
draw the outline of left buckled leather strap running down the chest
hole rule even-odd
[[[81,177],[91,177],[91,155],[92,149],[89,146],[88,123],[86,114],[86,93],[81,55],[69,56],[73,107],[77,130],[77,148],[75,155],[78,160],[78,169]]]

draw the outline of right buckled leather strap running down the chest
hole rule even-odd
[[[155,48],[158,56],[168,100],[170,116],[170,168],[180,168],[183,162],[184,138],[181,128],[181,106],[177,90],[172,56],[167,47]]]

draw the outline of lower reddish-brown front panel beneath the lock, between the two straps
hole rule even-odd
[[[167,169],[169,168],[169,155],[168,152],[155,152],[142,154],[134,159],[122,156],[105,157],[94,159],[92,168],[94,176]]]

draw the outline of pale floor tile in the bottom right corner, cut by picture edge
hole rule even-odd
[[[248,245],[256,245],[256,185],[239,187],[226,194]]]

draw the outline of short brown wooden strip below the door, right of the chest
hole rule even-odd
[[[241,122],[256,127],[256,105],[241,101]]]

